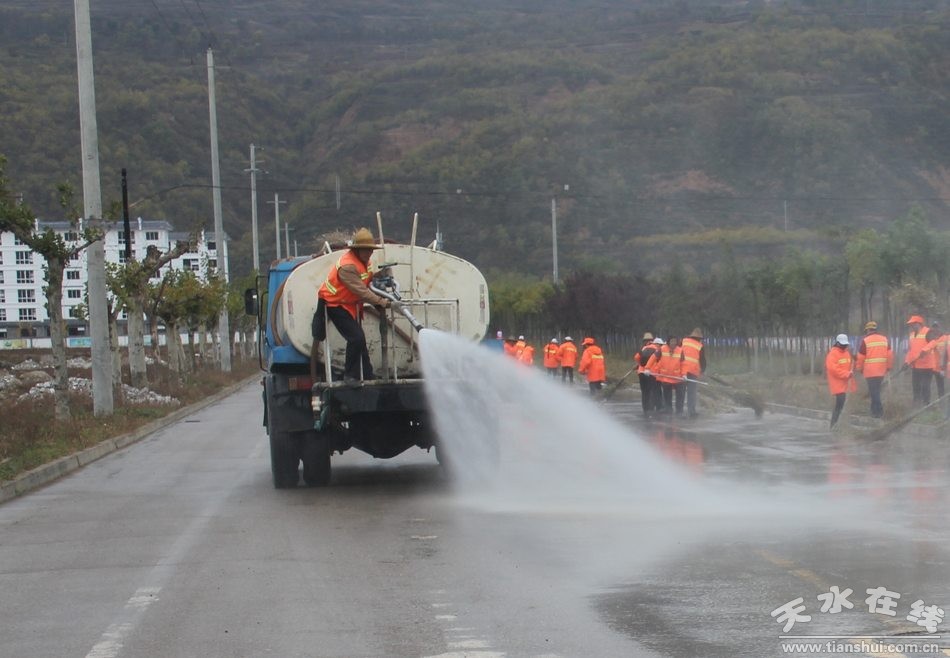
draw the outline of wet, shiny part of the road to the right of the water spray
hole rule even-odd
[[[779,414],[652,423],[639,405],[611,410],[696,477],[774,503],[771,519],[694,528],[606,585],[592,600],[613,629],[662,656],[950,655],[946,437],[872,443]],[[801,496],[814,523],[786,518]]]

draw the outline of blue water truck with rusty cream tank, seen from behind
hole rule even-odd
[[[245,292],[245,310],[257,315],[271,472],[277,488],[296,487],[299,467],[308,486],[330,481],[334,453],[357,448],[389,459],[411,447],[435,448],[419,361],[418,332],[437,329],[480,341],[488,327],[488,285],[471,263],[437,243],[387,243],[370,261],[373,290],[395,303],[363,308],[363,331],[375,379],[344,381],[346,341],[332,322],[313,350],[311,322],[317,290],[347,245],[325,243],[319,254],[273,262],[266,297]],[[262,288],[265,276],[258,279]]]

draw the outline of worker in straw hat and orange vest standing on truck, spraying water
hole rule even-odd
[[[363,304],[389,308],[390,301],[369,289],[373,273],[369,265],[373,251],[380,249],[368,228],[359,229],[348,243],[349,249],[330,269],[326,281],[317,292],[319,301],[313,314],[313,347],[310,349],[311,372],[315,370],[317,344],[327,337],[327,319],[346,340],[343,381],[347,383],[374,379],[369,360],[366,334],[361,324]],[[327,350],[329,356],[329,350]]]

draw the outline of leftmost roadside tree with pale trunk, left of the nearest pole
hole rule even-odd
[[[71,209],[73,193],[68,185],[59,186],[60,203]],[[71,216],[77,217],[78,212]],[[74,224],[75,226],[75,224]],[[16,202],[7,188],[6,158],[0,156],[0,231],[10,231],[25,245],[46,260],[43,278],[46,285],[46,310],[49,314],[49,331],[52,342],[54,415],[57,420],[68,420],[69,371],[66,364],[66,331],[63,323],[63,272],[69,261],[96,240],[102,239],[102,231],[84,228],[79,240],[67,243],[65,238],[51,228],[39,231],[33,211]]]

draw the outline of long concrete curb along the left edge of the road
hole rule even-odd
[[[168,427],[169,425],[177,423],[182,418],[186,418],[193,413],[201,411],[205,407],[214,404],[215,402],[223,400],[224,398],[237,393],[245,386],[258,381],[260,377],[261,375],[259,373],[251,375],[243,381],[221,389],[217,393],[209,395],[203,400],[199,400],[198,402],[190,404],[187,407],[176,409],[175,411],[162,416],[161,418],[153,420],[136,430],[105,439],[94,446],[80,450],[79,452],[72,455],[60,457],[59,459],[48,464],[37,466],[33,470],[27,471],[22,475],[18,475],[12,480],[2,482],[0,483],[0,504],[18,496],[22,496],[29,491],[39,489],[40,487],[58,480],[64,475],[79,470],[86,464],[91,464],[98,459],[102,459],[106,455],[126,448],[133,443],[137,443],[150,434]]]

